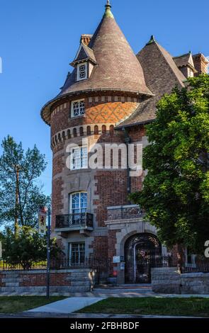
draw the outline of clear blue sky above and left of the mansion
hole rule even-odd
[[[47,170],[40,181],[51,192],[50,128],[40,108],[57,95],[81,33],[94,33],[106,0],[1,0],[0,141],[8,134],[23,147],[38,146]],[[150,35],[171,55],[209,55],[209,1],[112,0],[113,14],[138,52]],[[0,150],[1,152],[1,150]]]

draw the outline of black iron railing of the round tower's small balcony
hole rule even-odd
[[[56,216],[56,229],[69,227],[91,227],[93,228],[93,214],[91,213],[74,213]]]

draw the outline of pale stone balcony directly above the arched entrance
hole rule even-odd
[[[136,220],[142,218],[142,210],[138,205],[110,206],[108,210],[108,221],[115,220]]]

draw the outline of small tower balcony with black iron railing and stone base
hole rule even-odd
[[[68,232],[80,230],[84,233],[85,230],[93,230],[93,214],[90,213],[74,213],[56,215],[55,231]]]

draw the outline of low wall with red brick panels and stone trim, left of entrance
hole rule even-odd
[[[50,271],[52,293],[79,293],[90,291],[95,283],[95,271],[89,269],[63,269]],[[0,272],[0,292],[45,293],[46,271]]]

